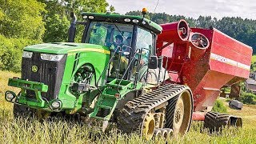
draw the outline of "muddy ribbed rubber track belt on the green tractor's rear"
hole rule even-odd
[[[146,114],[163,102],[169,102],[166,106],[166,127],[171,128],[178,95],[185,90],[190,88],[184,85],[166,84],[126,102],[124,108],[118,113],[118,129],[125,133],[140,130]]]

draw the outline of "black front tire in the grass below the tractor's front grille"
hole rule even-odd
[[[36,110],[31,109],[30,107],[26,107],[26,106],[18,105],[14,103],[13,114],[14,114],[14,118],[33,117],[34,114],[36,114]]]

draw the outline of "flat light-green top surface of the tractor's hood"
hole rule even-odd
[[[110,54],[110,50],[106,46],[93,45],[88,43],[73,43],[73,42],[53,42],[43,43],[33,46],[26,46],[26,51],[40,52],[46,54],[68,54],[78,51],[95,51]]]

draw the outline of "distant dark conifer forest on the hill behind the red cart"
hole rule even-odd
[[[140,11],[130,11],[127,15],[142,15]],[[243,18],[224,17],[222,19],[212,18],[210,16],[199,16],[199,18],[186,18],[182,15],[170,15],[166,13],[149,13],[147,18],[158,24],[166,22],[177,22],[185,19],[190,27],[209,28],[210,26],[221,30],[224,34],[253,47],[256,53],[256,20]]]

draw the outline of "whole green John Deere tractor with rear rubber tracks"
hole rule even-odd
[[[8,82],[21,91],[6,91],[14,116],[81,114],[102,120],[103,129],[116,122],[123,132],[138,131],[146,139],[189,130],[192,93],[188,86],[168,82],[162,70],[156,55],[161,26],[144,16],[82,13],[83,22],[74,14],[71,18],[69,42],[24,48],[22,78]],[[74,42],[75,25],[84,27],[81,43]]]

